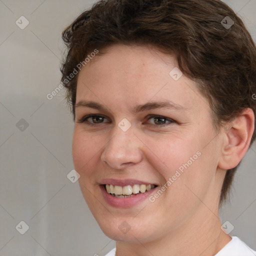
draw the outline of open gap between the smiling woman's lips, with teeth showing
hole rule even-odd
[[[113,185],[113,184],[103,184],[105,191],[113,197],[126,198],[132,197],[138,194],[146,193],[151,189],[155,188],[155,184],[133,184],[133,185]]]

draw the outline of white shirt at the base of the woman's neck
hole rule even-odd
[[[248,247],[237,236],[231,236],[228,242],[215,256],[256,256],[256,251]],[[115,248],[105,256],[115,256]]]

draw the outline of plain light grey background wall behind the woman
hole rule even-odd
[[[256,0],[225,2],[256,40]],[[78,182],[66,177],[73,169],[73,122],[64,90],[46,98],[59,85],[61,31],[92,3],[0,0],[1,256],[104,255],[114,247],[88,210]],[[15,24],[21,15],[29,21],[24,29]],[[230,203],[220,212],[222,221],[234,226],[230,234],[254,249],[255,163],[254,144],[237,171]],[[23,235],[15,229],[21,220],[29,226]]]

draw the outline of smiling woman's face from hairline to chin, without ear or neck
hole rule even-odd
[[[208,101],[176,66],[156,49],[113,45],[79,72],[74,167],[114,240],[150,242],[217,214],[221,135]],[[133,196],[110,195],[105,184]]]

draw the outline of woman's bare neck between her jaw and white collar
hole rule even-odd
[[[212,256],[221,250],[231,237],[221,229],[218,210],[209,210],[204,204],[201,214],[184,222],[179,228],[146,243],[116,242],[116,256]]]

